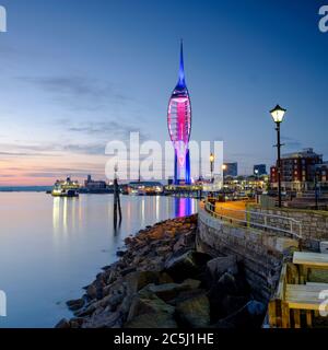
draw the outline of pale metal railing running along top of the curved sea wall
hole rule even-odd
[[[247,228],[255,228],[261,231],[278,232],[302,238],[302,222],[293,218],[268,214],[251,210],[235,210],[206,201],[204,209],[212,217],[225,222]]]

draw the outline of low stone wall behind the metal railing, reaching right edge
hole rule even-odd
[[[302,223],[302,246],[304,248],[318,252],[320,241],[328,241],[328,212],[315,210],[296,210],[289,208],[261,208],[249,206],[248,209],[256,213],[268,213],[273,215],[286,217]],[[251,221],[260,222],[259,215],[251,215]],[[288,229],[286,221],[279,218],[270,218],[270,225]]]

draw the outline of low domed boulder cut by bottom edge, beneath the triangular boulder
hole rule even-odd
[[[143,314],[125,324],[124,328],[177,328],[171,314]]]

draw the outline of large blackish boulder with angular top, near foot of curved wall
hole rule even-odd
[[[195,278],[202,272],[207,261],[211,257],[208,254],[189,250],[183,255],[173,254],[165,261],[165,270],[177,282],[186,278]]]

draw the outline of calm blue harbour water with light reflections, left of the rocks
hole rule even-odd
[[[70,317],[66,301],[82,295],[124,240],[155,222],[197,212],[197,201],[121,197],[124,221],[115,233],[113,196],[52,198],[0,192],[0,291],[7,317],[0,327],[54,327]]]

